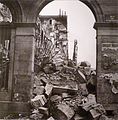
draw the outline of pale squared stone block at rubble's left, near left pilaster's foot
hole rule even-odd
[[[38,108],[40,106],[44,106],[47,102],[47,99],[45,98],[44,95],[37,95],[35,98],[31,99],[31,104],[35,107]]]

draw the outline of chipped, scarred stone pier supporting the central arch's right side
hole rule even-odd
[[[118,24],[96,23],[95,28],[97,30],[97,102],[103,104],[106,110],[115,110],[118,108]]]

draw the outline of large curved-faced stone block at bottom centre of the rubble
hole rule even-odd
[[[74,116],[74,110],[69,105],[61,103],[57,105],[53,116],[56,120],[70,120]]]

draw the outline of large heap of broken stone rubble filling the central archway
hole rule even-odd
[[[60,66],[46,64],[34,76],[30,119],[111,120],[96,103],[95,83],[90,66],[76,67],[72,61]]]

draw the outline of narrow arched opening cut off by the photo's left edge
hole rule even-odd
[[[12,14],[0,3],[0,91],[8,90]]]

